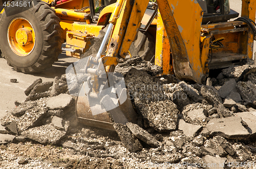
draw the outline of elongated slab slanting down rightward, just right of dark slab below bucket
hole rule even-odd
[[[137,124],[126,123],[126,126],[132,131],[132,133],[139,139],[141,139],[146,144],[153,148],[159,146],[159,142],[150,133],[145,131],[143,128],[139,127]]]

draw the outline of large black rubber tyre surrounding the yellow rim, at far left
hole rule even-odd
[[[0,14],[0,49],[2,57],[7,60],[8,65],[14,70],[24,73],[32,73],[45,70],[58,61],[61,53],[62,29],[59,25],[60,19],[55,11],[47,3],[41,1],[18,0],[14,3],[30,3],[30,7],[14,6],[5,7]],[[8,43],[8,27],[15,18],[24,18],[33,27],[35,34],[35,45],[26,56],[16,54]]]

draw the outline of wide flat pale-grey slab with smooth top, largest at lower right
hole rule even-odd
[[[228,139],[245,139],[250,136],[248,130],[242,125],[241,117],[211,119],[201,134],[206,136],[220,135]]]

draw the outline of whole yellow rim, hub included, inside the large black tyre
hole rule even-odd
[[[14,18],[8,26],[8,43],[14,53],[25,57],[35,46],[35,32],[25,18]]]

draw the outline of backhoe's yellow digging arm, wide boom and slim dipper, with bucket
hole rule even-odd
[[[180,7],[178,1],[175,0],[158,0],[157,3],[158,6],[164,7],[160,7],[159,11],[172,50],[176,76],[180,79],[191,79],[202,83],[205,80],[203,65],[207,62],[207,57],[201,56],[202,10],[200,6],[196,1],[190,0],[182,3],[186,4],[185,7]],[[124,124],[127,121],[136,121],[137,114],[126,94],[124,80],[120,81],[120,84],[115,83],[113,80],[115,77],[111,72],[114,72],[119,59],[125,58],[129,52],[131,43],[140,29],[147,4],[148,0],[117,1],[100,49],[97,54],[90,56],[84,69],[85,73],[90,73],[91,76],[83,82],[76,102],[76,114],[82,123],[113,129],[112,119],[114,122]],[[189,17],[181,15],[182,8],[191,12],[188,14]],[[109,36],[106,55],[101,55]],[[205,40],[202,42],[205,43]],[[207,52],[208,48],[202,53],[207,55]],[[198,61],[191,64],[195,60]],[[112,98],[107,99],[105,96],[112,96]],[[112,100],[115,104],[112,104]]]

